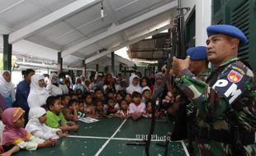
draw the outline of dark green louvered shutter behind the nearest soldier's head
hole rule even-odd
[[[249,43],[239,48],[239,58],[249,62],[256,72],[256,17],[254,0],[212,0],[212,24],[235,25],[244,32]]]

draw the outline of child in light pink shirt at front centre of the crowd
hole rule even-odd
[[[139,92],[133,92],[131,95],[132,102],[129,105],[129,111],[132,119],[138,120],[145,113],[145,103],[141,103],[141,94]]]

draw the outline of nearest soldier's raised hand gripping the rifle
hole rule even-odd
[[[173,57],[172,62],[172,70],[170,71],[170,76],[178,76],[178,74],[187,69],[189,67],[190,57],[186,57],[186,59],[179,59],[177,57]]]

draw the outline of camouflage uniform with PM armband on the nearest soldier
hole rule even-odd
[[[212,76],[217,70],[220,70],[219,75],[216,80],[213,80]],[[228,132],[230,131],[230,117],[228,117],[227,112],[232,110],[235,118],[237,118],[236,124],[239,129],[245,131],[246,134],[255,133],[256,77],[243,62],[237,58],[231,58],[223,63],[211,72],[208,80],[206,80],[209,85],[198,80],[187,69],[183,70],[179,77],[176,80],[178,87],[187,95],[188,99],[192,100],[191,104],[197,108],[195,126],[211,131]],[[242,149],[246,155],[256,155],[256,144],[254,143],[243,145]],[[228,143],[201,138],[196,135],[192,155],[235,154]]]

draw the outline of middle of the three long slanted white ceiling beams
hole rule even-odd
[[[112,34],[116,34],[116,33],[120,32],[121,30],[126,30],[127,28],[129,28],[132,25],[136,25],[142,21],[145,21],[145,20],[153,17],[153,16],[157,16],[165,11],[168,11],[174,7],[177,7],[177,5],[178,5],[177,1],[169,2],[162,7],[158,7],[152,11],[149,11],[149,12],[141,15],[141,16],[135,17],[134,19],[132,19],[130,21],[126,21],[125,23],[123,23],[121,25],[112,27],[111,29],[107,30],[106,32],[104,32],[102,34],[97,34],[96,36],[94,36],[90,39],[87,39],[79,44],[76,44],[74,46],[71,46],[70,48],[67,48],[66,50],[63,51],[62,57],[65,57],[67,55],[75,53],[78,50],[85,48],[90,44],[94,44],[101,39],[105,39]]]

